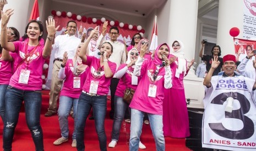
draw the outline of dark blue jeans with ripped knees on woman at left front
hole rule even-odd
[[[26,91],[8,86],[6,90],[6,118],[3,129],[3,149],[12,150],[15,127],[24,100],[26,124],[31,132],[36,150],[43,150],[43,133],[40,125],[41,91]]]

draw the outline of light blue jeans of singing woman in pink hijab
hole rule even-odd
[[[165,150],[165,137],[164,131],[162,131],[162,115],[150,114],[148,113],[150,128],[153,133],[156,150]],[[132,119],[130,124],[130,142],[129,150],[134,151],[139,149],[139,140],[143,124],[144,112],[132,108]]]

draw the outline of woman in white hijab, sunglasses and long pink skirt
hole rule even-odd
[[[184,45],[181,41],[175,40],[172,43],[170,52],[172,74],[172,88],[165,89],[164,99],[164,136],[184,138],[190,135],[188,123],[188,110],[183,85],[183,78],[187,75],[192,60],[187,66],[187,60],[184,59]]]

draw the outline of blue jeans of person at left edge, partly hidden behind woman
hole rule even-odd
[[[0,116],[4,123],[4,115],[6,114],[6,103],[4,101],[4,96],[6,95],[6,89],[8,84],[0,84]]]

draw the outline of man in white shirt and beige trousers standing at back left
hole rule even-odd
[[[63,54],[67,51],[68,58],[72,59],[81,42],[81,39],[75,37],[75,33],[77,32],[77,23],[75,21],[68,21],[67,32],[67,34],[57,36],[55,38],[55,44],[52,46],[52,50],[55,52],[55,60],[53,61],[49,108],[45,113],[45,117],[51,117],[57,113],[57,99],[63,83],[63,80],[58,78],[58,72],[61,68]]]

